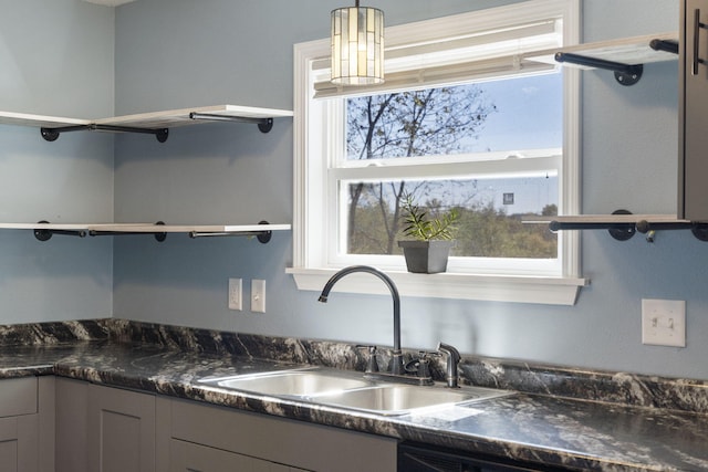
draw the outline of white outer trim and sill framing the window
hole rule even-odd
[[[580,4],[577,0],[533,0],[508,7],[480,10],[477,12],[455,15],[485,14],[488,19],[503,21],[504,15],[512,12],[539,11],[564,13],[564,38],[566,44],[574,44],[580,39]],[[518,18],[518,17],[517,17]],[[449,31],[449,18],[441,18],[415,23],[416,34],[426,32]],[[458,23],[461,23],[458,21]],[[467,23],[469,24],[469,23]],[[485,23],[489,24],[489,23]],[[395,44],[406,35],[406,29],[412,24],[393,27],[386,30],[387,44]],[[393,39],[393,41],[392,41]],[[311,177],[309,167],[309,91],[312,83],[310,69],[313,61],[321,60],[330,53],[329,39],[311,41],[294,45],[294,123],[293,123],[293,266],[287,269],[292,274],[299,290],[319,291],[337,271],[326,268],[324,261],[317,260],[317,254],[310,253],[306,232],[324,230],[323,219],[314,213],[308,204],[308,186],[311,178],[326,181],[322,172],[326,166],[320,166],[315,177]],[[580,72],[573,69],[564,71],[564,116],[574,119],[564,120],[563,154],[566,156],[562,166],[559,186],[564,213],[575,214],[580,210]],[[312,125],[312,124],[311,124]],[[314,123],[317,128],[317,123]],[[570,189],[570,190],[566,190]],[[589,284],[589,280],[580,276],[580,235],[577,231],[561,233],[563,273],[561,276],[523,276],[523,275],[479,275],[464,273],[412,274],[404,271],[387,271],[404,296],[441,297],[457,300],[502,301],[519,303],[542,303],[552,305],[574,305],[579,291]],[[561,242],[559,240],[559,242]],[[325,241],[325,244],[332,243]],[[325,250],[324,253],[327,251]],[[381,265],[379,265],[381,266]],[[386,270],[386,268],[381,266]],[[347,277],[337,290],[350,293],[384,294],[381,284],[371,277]]]

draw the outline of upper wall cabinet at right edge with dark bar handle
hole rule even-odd
[[[708,221],[708,0],[681,2],[678,217]]]

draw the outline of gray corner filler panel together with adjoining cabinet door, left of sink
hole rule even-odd
[[[58,472],[155,471],[154,395],[56,381]]]

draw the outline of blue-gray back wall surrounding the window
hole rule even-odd
[[[79,0],[62,2],[95,11],[94,6]],[[388,24],[399,24],[501,3],[388,0],[372,4],[385,10]],[[292,45],[325,38],[329,12],[336,7],[341,2],[335,0],[137,0],[118,7],[115,113],[223,103],[291,108]],[[95,9],[106,15],[114,11]],[[665,0],[590,0],[583,2],[583,9],[586,41],[671,31],[678,23],[677,2]],[[65,20],[51,24],[80,31],[87,28]],[[3,33],[4,29],[0,31]],[[24,48],[21,51],[23,56],[30,54]],[[112,71],[112,65],[95,66],[97,74]],[[633,87],[620,86],[607,72],[583,73],[584,212],[606,213],[617,208],[653,213],[675,211],[676,82],[676,62],[647,65],[645,76]],[[88,101],[76,97],[76,113],[65,108],[31,111],[82,117],[92,114],[86,111]],[[34,105],[29,99],[27,104]],[[12,139],[29,133],[14,127],[2,129]],[[29,136],[24,139],[30,140]],[[85,159],[66,160],[70,166],[88,165]],[[114,178],[114,212],[118,221],[290,222],[292,123],[279,119],[267,135],[247,125],[174,128],[164,145],[148,136],[116,136]],[[104,196],[97,189],[86,193],[90,199]],[[6,233],[0,238],[12,239],[3,241],[8,253],[15,249],[28,252],[18,262],[19,274],[0,264],[1,291],[6,283],[23,282],[23,262],[31,253],[23,245],[31,245],[32,241],[15,241],[14,235]],[[657,234],[654,244],[642,237],[620,243],[604,232],[585,232],[582,239],[583,273],[592,279],[592,285],[582,290],[575,306],[407,297],[403,301],[404,345],[433,348],[442,339],[468,354],[708,378],[704,363],[708,355],[708,344],[704,342],[708,334],[708,295],[704,290],[708,245],[678,231]],[[84,242],[62,244],[69,248],[58,254],[76,263],[86,259]],[[322,305],[316,303],[315,293],[295,289],[292,277],[284,273],[292,263],[289,232],[277,233],[267,245],[248,239],[189,240],[170,235],[165,243],[157,243],[149,238],[123,237],[114,240],[113,256],[116,317],[391,344],[387,297],[336,294]],[[59,266],[45,274],[37,270],[35,277],[43,284],[60,281]],[[76,274],[83,272],[71,269]],[[76,274],[62,276],[71,283]],[[250,280],[266,279],[268,313],[229,312],[228,277],[244,279],[247,291]],[[688,347],[641,344],[643,297],[687,301]],[[8,306],[2,310],[2,321],[15,322],[14,311],[32,297],[31,293],[8,293],[0,300]],[[59,302],[54,308],[71,311],[67,307],[73,300],[65,295]],[[76,303],[80,315],[93,307],[90,302]],[[104,314],[101,308],[94,312],[95,316]],[[58,316],[55,311],[38,307],[25,318]]]

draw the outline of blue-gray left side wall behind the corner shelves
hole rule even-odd
[[[79,0],[0,0],[0,109],[114,113],[115,12]],[[0,221],[113,220],[113,136],[0,126]],[[0,322],[111,316],[111,238],[0,232]]]

